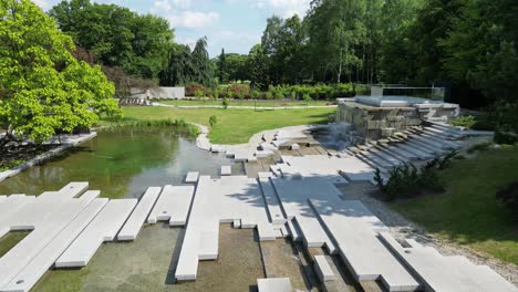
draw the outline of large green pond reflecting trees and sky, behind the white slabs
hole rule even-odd
[[[190,170],[216,176],[228,164],[170,129],[101,132],[66,155],[0,182],[0,194],[40,195],[90,181],[103,197],[138,197],[149,186],[182,184]]]

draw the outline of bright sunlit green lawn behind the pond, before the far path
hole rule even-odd
[[[126,119],[184,119],[209,125],[211,115],[218,123],[210,129],[209,138],[215,144],[247,143],[250,137],[266,129],[286,126],[328,123],[334,108],[308,108],[287,111],[253,111],[222,108],[170,108],[158,106],[123,107]]]

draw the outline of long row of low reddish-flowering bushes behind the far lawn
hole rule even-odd
[[[354,95],[352,83],[335,85],[278,85],[268,91],[251,90],[248,84],[219,85],[216,88],[204,87],[200,84],[190,84],[185,87],[186,96],[210,97],[210,98],[236,98],[236,100],[334,100],[336,97],[350,97]]]

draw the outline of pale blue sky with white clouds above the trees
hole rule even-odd
[[[61,0],[33,0],[48,11]],[[152,13],[169,21],[175,41],[194,48],[196,40],[208,38],[211,58],[226,53],[247,54],[260,43],[267,19],[305,15],[311,0],[95,0],[115,3],[138,13]]]

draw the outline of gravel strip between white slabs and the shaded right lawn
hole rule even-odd
[[[425,246],[435,248],[444,255],[464,255],[476,264],[486,264],[518,288],[518,267],[516,264],[503,262],[491,255],[427,233],[423,227],[391,210],[384,201],[377,198],[377,189],[370,182],[352,182],[336,187],[342,191],[345,200],[362,201],[388,227],[394,238],[398,240],[413,238]]]

